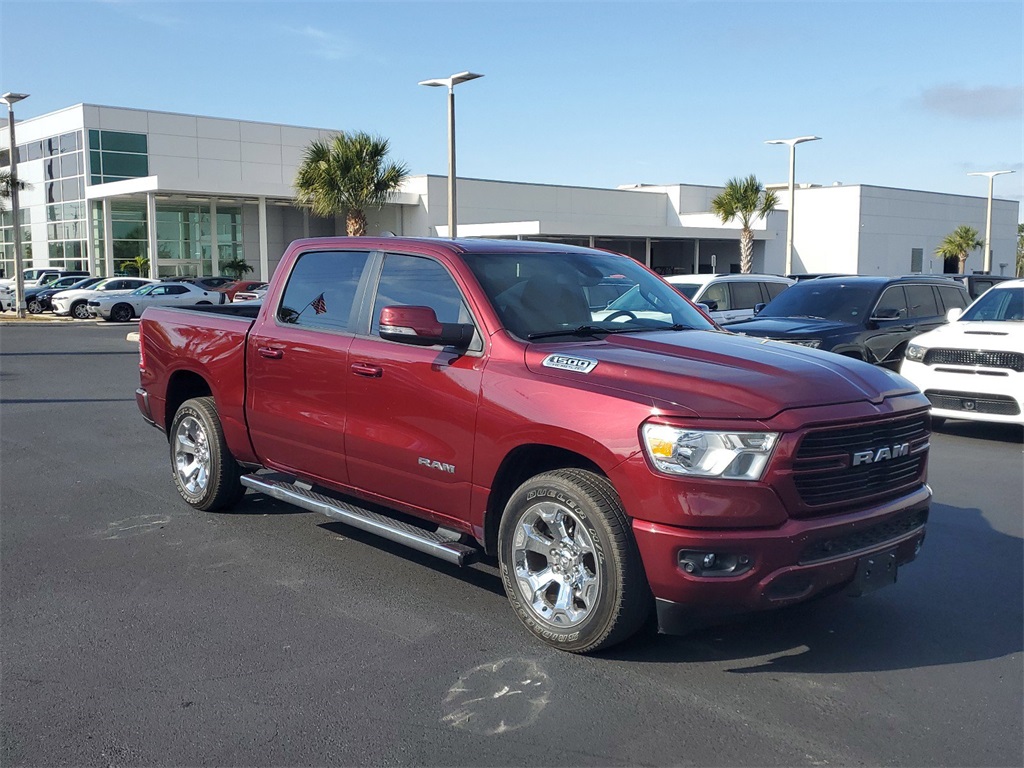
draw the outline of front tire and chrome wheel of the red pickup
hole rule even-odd
[[[629,518],[607,478],[560,469],[512,495],[498,559],[519,621],[549,645],[588,653],[639,631],[651,595]]]

